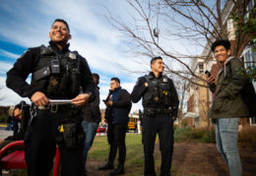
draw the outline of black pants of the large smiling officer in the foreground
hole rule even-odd
[[[25,136],[25,156],[29,176],[50,174],[55,156],[55,134],[61,113],[53,114],[48,110],[38,110],[38,114]],[[62,176],[81,176],[83,174],[83,145],[75,149],[59,147]]]

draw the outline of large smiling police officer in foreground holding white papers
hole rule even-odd
[[[61,175],[81,176],[85,134],[79,107],[93,100],[95,84],[86,59],[69,50],[68,24],[56,19],[49,37],[47,47],[30,48],[17,60],[6,84],[32,100],[33,117],[25,135],[28,175],[49,175],[57,143]],[[50,99],[71,99],[72,104],[50,105]]]

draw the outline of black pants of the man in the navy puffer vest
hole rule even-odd
[[[127,124],[108,124],[107,140],[110,145],[110,151],[108,156],[109,163],[114,163],[116,151],[118,148],[119,164],[124,165],[124,161],[126,157],[126,146],[125,146],[126,130],[127,130]]]

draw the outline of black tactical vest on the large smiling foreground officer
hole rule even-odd
[[[79,94],[80,60],[76,51],[60,55],[42,45],[38,57],[32,73],[33,87],[52,98],[73,98]]]

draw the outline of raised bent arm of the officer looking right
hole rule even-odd
[[[147,86],[147,83],[146,83],[145,77],[139,78],[131,93],[132,102],[136,103],[142,98],[144,92],[147,89],[146,86]]]

